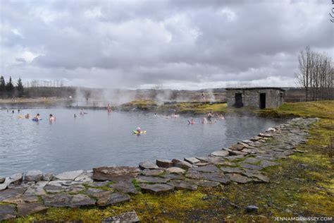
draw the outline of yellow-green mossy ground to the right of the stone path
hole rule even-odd
[[[273,110],[270,110],[272,112]],[[15,219],[16,222],[100,222],[122,212],[135,210],[142,222],[273,222],[273,217],[334,217],[333,158],[325,152],[334,135],[334,102],[285,104],[276,114],[318,116],[306,145],[266,169],[271,183],[231,183],[197,191],[175,191],[164,195],[140,193],[130,203],[99,208],[50,208],[46,213]],[[257,214],[245,207],[256,205]]]

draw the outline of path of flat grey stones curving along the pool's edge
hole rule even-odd
[[[0,177],[0,221],[43,212],[48,207],[106,206],[128,202],[137,193],[196,190],[227,183],[268,183],[263,172],[278,165],[295,147],[307,142],[318,119],[292,119],[206,157],[157,159],[138,167],[98,167],[53,175],[39,170]],[[139,221],[135,212],[104,219]]]

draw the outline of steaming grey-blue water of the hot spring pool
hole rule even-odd
[[[0,110],[0,176],[30,169],[55,174],[104,165],[137,166],[157,158],[173,159],[209,155],[237,140],[250,138],[282,122],[259,117],[233,116],[214,124],[187,125],[188,116],[177,119],[151,113],[87,110],[30,109],[20,114],[41,115],[42,121],[18,119],[18,113]],[[50,124],[47,116],[56,116]],[[30,117],[31,118],[31,117]],[[146,135],[132,135],[137,126]]]

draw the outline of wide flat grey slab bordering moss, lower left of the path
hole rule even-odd
[[[95,205],[95,200],[83,194],[62,194],[43,195],[44,205],[51,207],[81,207]]]

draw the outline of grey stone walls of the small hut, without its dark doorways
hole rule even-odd
[[[242,103],[247,107],[260,107],[260,93],[266,94],[266,108],[280,107],[284,103],[284,91],[278,88],[227,89],[226,100],[228,107],[235,104],[235,94],[242,94]]]

